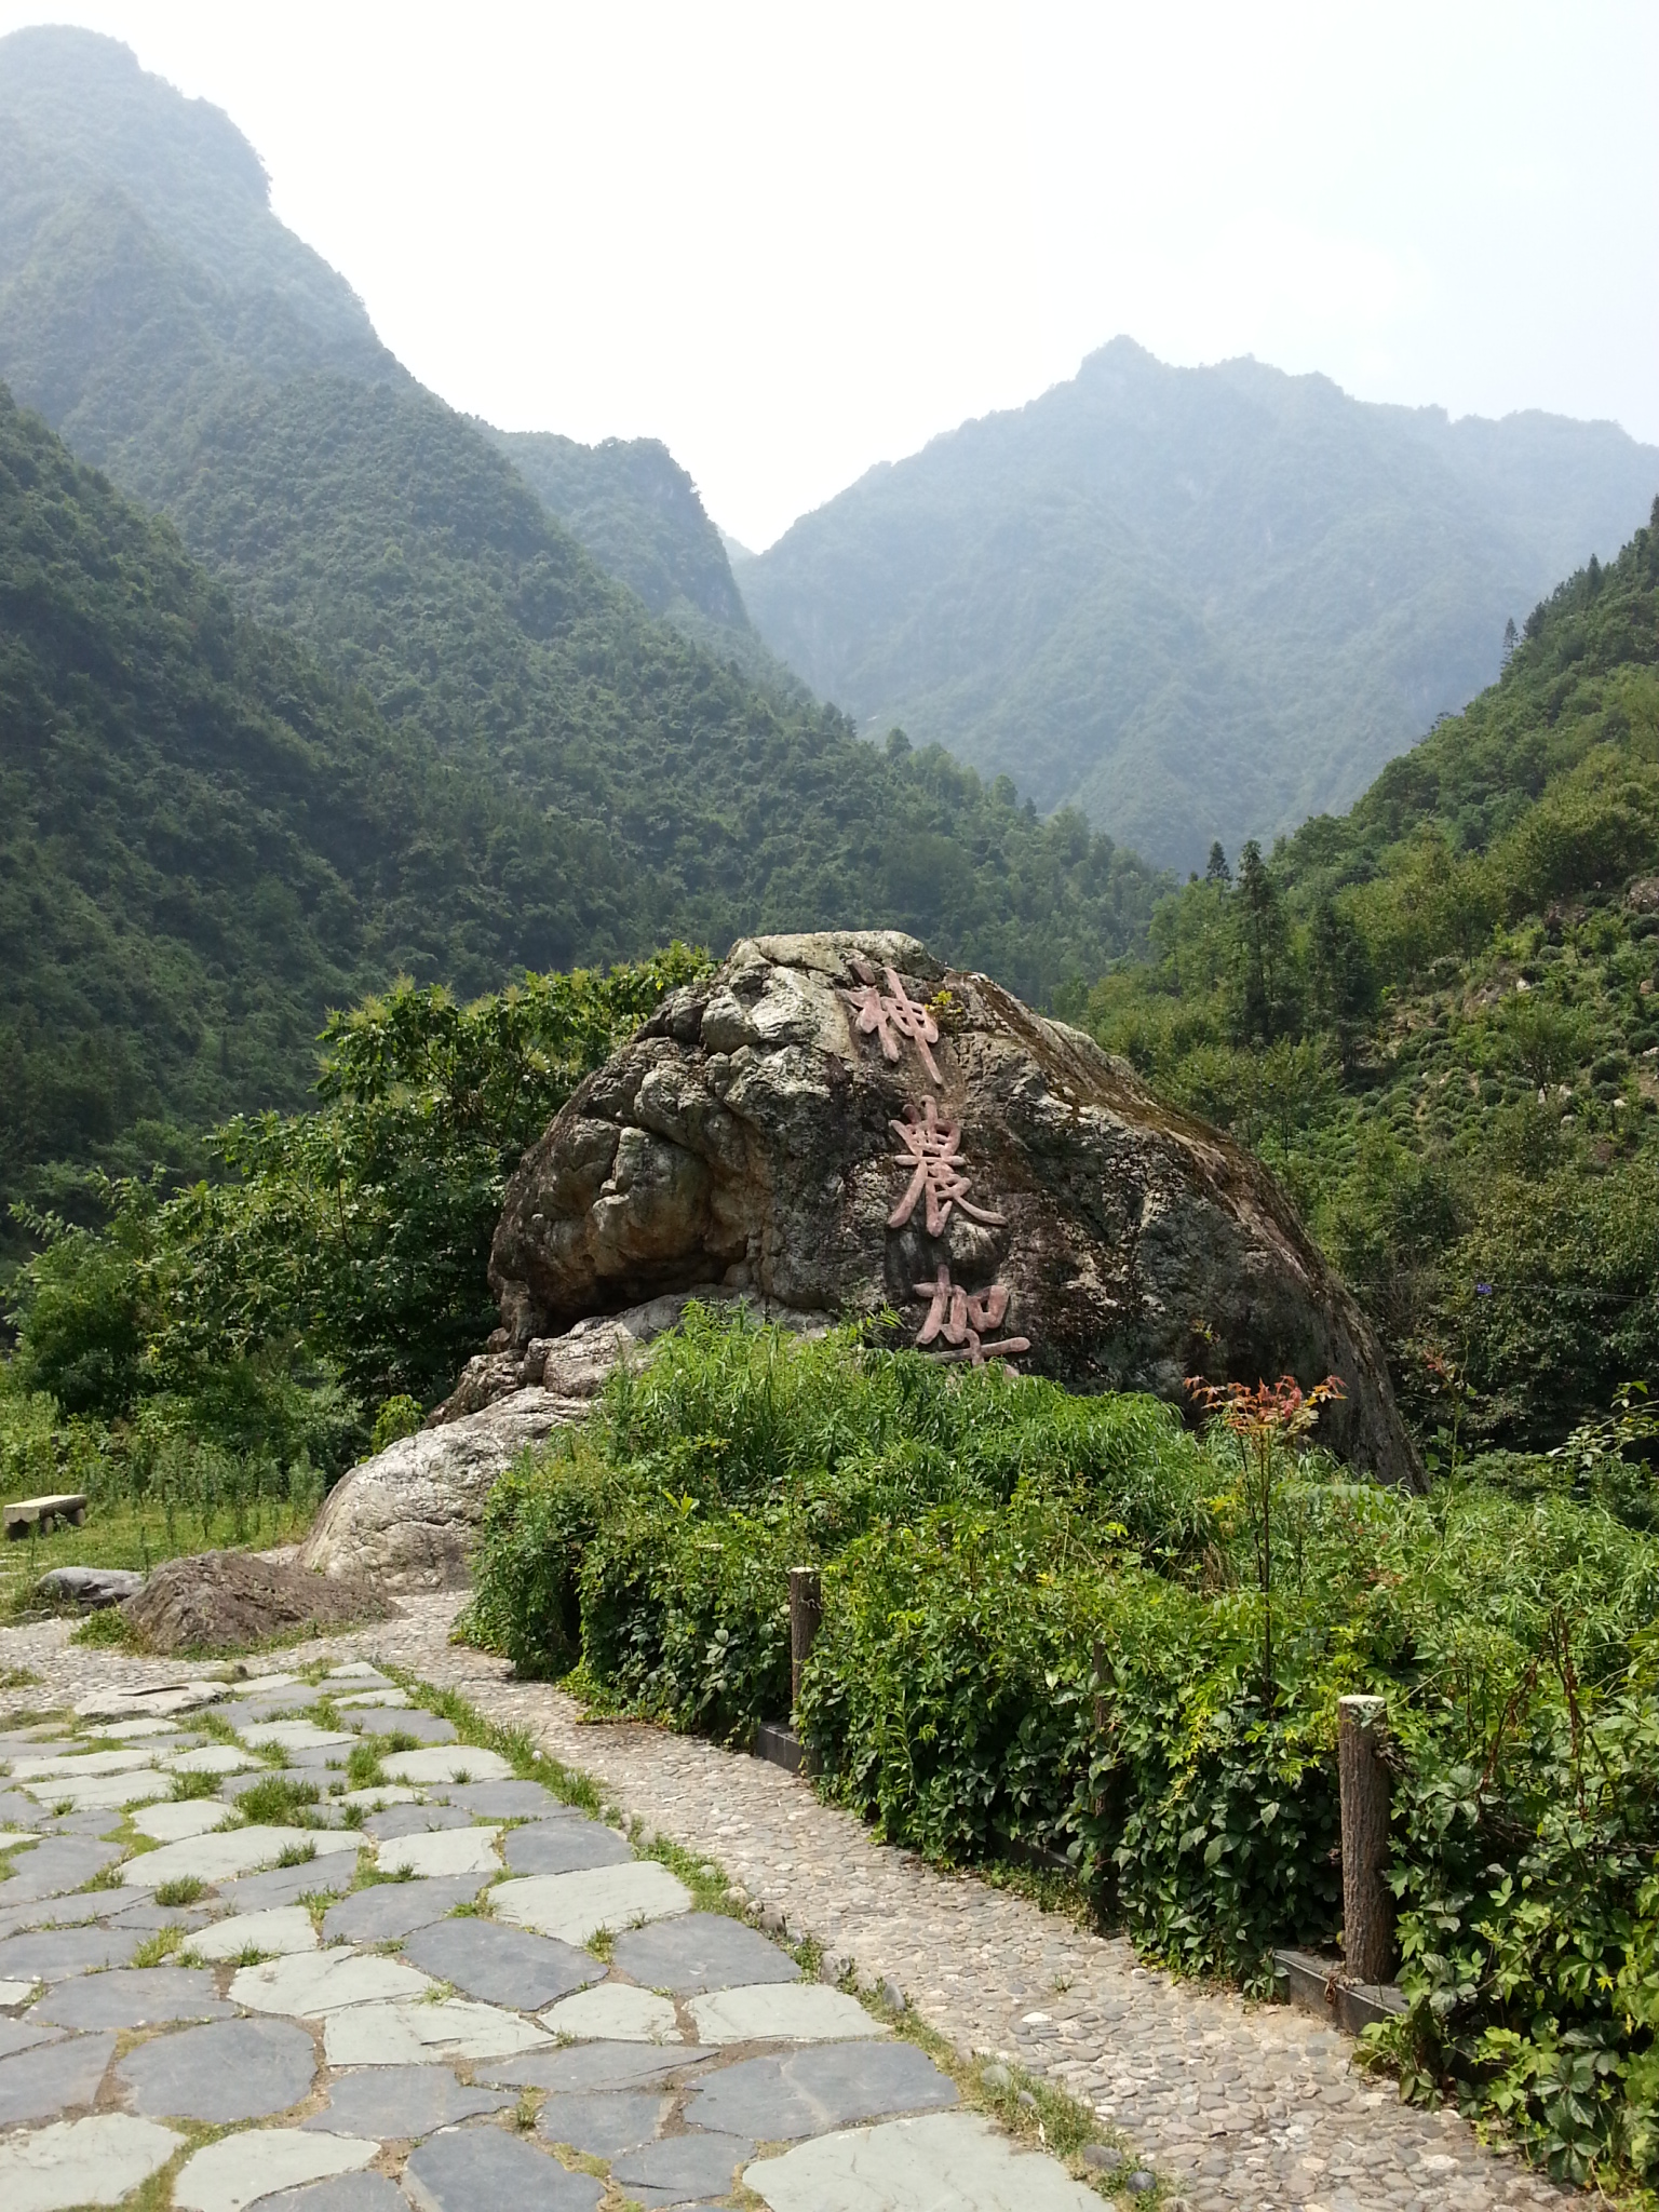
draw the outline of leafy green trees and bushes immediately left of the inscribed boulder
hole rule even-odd
[[[62,1475],[100,1460],[104,1489],[142,1500],[157,1455],[336,1473],[372,1436],[405,1433],[493,1325],[484,1270],[507,1177],[699,967],[672,947],[471,1006],[400,984],[330,1020],[312,1113],[212,1133],[215,1179],[104,1181],[97,1228],[33,1214],[42,1250],[13,1290],[0,1453],[15,1433]]]

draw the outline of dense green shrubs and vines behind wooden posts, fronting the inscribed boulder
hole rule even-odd
[[[1659,1542],[1597,1502],[1646,1511],[1650,1475],[1586,1433],[1533,1498],[1411,1498],[1270,1431],[1263,1489],[1239,1447],[692,1312],[495,1489],[467,1632],[741,1741],[787,1710],[785,1577],[816,1562],[825,1790],[947,1863],[1064,1851],[1146,1953],[1252,1984],[1336,1936],[1336,1699],[1380,1690],[1407,2093],[1564,2174],[1659,2170]]]

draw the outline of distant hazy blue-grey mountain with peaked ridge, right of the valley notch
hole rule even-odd
[[[1606,422],[1449,422],[1117,338],[734,573],[761,637],[863,728],[1201,867],[1214,836],[1358,796],[1657,489],[1659,451]]]

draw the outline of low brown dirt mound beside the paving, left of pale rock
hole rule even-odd
[[[389,1621],[398,1606],[349,1575],[310,1575],[248,1551],[204,1551],[157,1566],[122,1606],[133,1637],[153,1652],[246,1650],[301,1630]]]

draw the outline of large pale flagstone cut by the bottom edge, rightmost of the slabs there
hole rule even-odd
[[[1064,2166],[1015,2150],[978,2112],[821,2135],[757,2159],[743,2183],[770,2212],[1099,2212]]]

